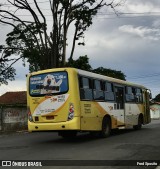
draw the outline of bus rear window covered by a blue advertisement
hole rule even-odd
[[[30,77],[30,95],[62,94],[68,91],[67,72],[51,72]]]

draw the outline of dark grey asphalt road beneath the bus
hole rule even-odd
[[[75,160],[81,160],[77,163],[78,166],[43,167],[47,169],[153,169],[156,167],[130,165],[135,161],[137,163],[160,160],[160,120],[153,120],[151,124],[143,126],[138,131],[132,129],[116,131],[105,139],[92,138],[88,133],[79,134],[72,140],[64,140],[53,132],[3,134],[0,135],[0,160],[61,160],[62,165],[65,165],[68,160],[72,160],[73,164]],[[87,162],[93,166],[86,164],[80,166],[85,162],[82,160],[90,160]],[[104,160],[102,161],[105,163],[104,166],[94,166],[95,160]],[[128,166],[119,166],[124,160],[129,160]],[[101,161],[98,162],[102,165]],[[116,166],[108,166],[110,162]]]

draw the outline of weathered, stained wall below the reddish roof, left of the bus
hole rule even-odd
[[[26,106],[1,106],[1,130],[17,131],[27,129]]]

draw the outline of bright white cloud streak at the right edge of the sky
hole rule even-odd
[[[157,28],[149,28],[144,26],[134,27],[133,25],[123,25],[119,27],[119,31],[151,41],[160,40],[160,29]]]

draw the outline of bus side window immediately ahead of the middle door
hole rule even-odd
[[[135,102],[135,88],[127,86],[126,87],[126,101]]]

